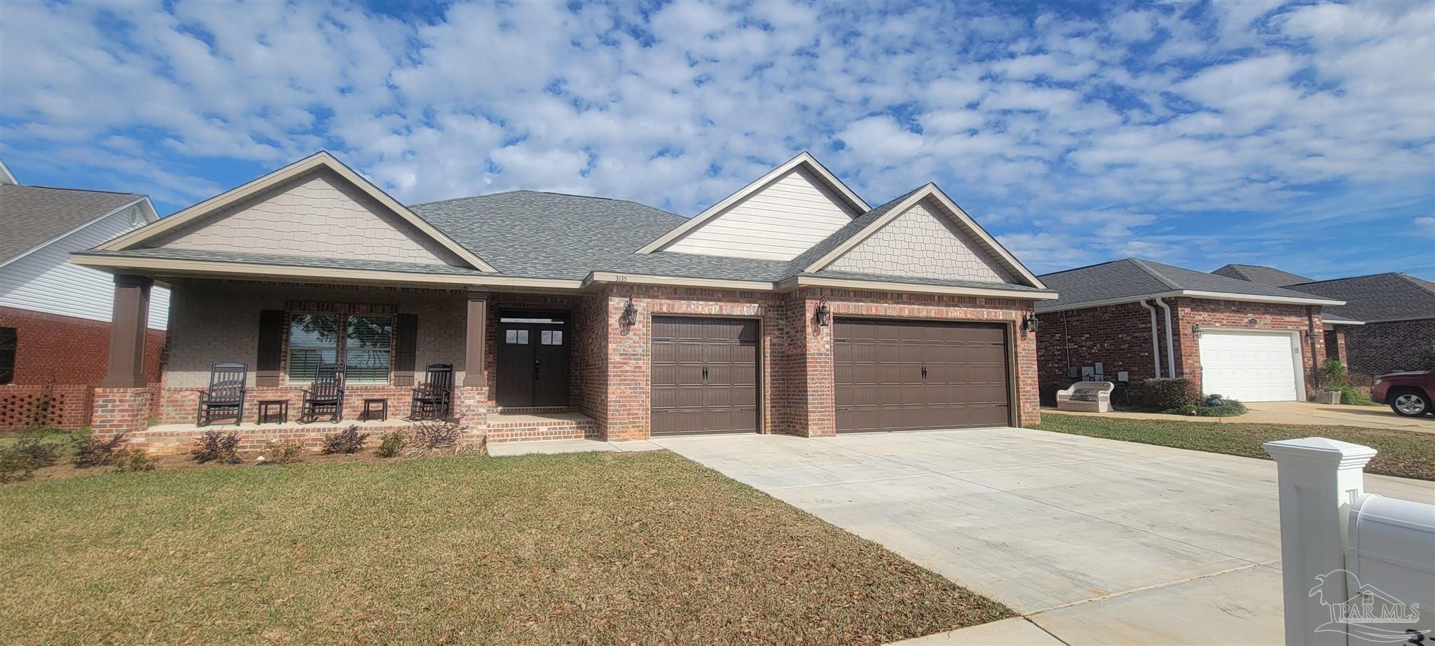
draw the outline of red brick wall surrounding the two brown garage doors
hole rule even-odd
[[[637,307],[631,327],[618,317],[629,296]],[[1009,322],[1015,330],[1017,423],[1040,422],[1036,392],[1036,337],[1022,333],[1029,303],[933,294],[804,290],[794,294],[616,286],[607,303],[607,418],[610,439],[640,439],[650,429],[651,319],[663,314],[756,317],[762,326],[762,432],[832,435],[837,426],[832,329],[814,322],[821,297],[832,316]]]

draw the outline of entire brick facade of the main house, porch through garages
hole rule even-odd
[[[971,320],[1007,323],[1016,390],[1015,422],[1040,421],[1036,395],[1036,336],[1020,330],[1029,303],[1004,299],[893,294],[878,291],[817,290],[791,294],[693,287],[608,286],[597,294],[492,293],[486,313],[486,386],[458,388],[455,415],[475,436],[489,441],[607,438],[641,439],[650,432],[651,320],[654,316],[749,317],[759,322],[759,419],[766,434],[805,436],[835,432],[832,327],[815,323],[815,310],[827,299],[834,317],[890,317],[923,320]],[[637,323],[621,322],[631,299]],[[426,362],[449,362],[462,370],[465,353],[465,297],[451,290],[405,290],[343,286],[280,286],[247,281],[188,281],[172,297],[172,356],[162,388],[108,392],[96,428],[106,434],[145,428],[154,412],[161,423],[194,423],[198,390],[207,386],[208,368],[218,360],[240,360],[255,366],[257,322],[263,309],[284,309],[287,303],[349,303],[376,306],[392,303],[395,312],[418,316],[416,370]],[[591,422],[515,423],[494,421],[495,378],[499,349],[499,319],[505,312],[550,310],[567,313],[570,324],[571,409]],[[280,431],[253,426],[261,399],[290,402],[290,419],[297,418],[304,385],[255,386],[251,382],[241,435],[273,435]],[[459,376],[462,379],[462,376]],[[387,398],[389,416],[409,413],[409,386],[350,385],[344,418],[359,415],[366,396]],[[273,432],[271,432],[273,431]],[[307,431],[319,436],[333,432],[320,423]],[[198,434],[198,429],[194,429]],[[268,434],[268,435],[265,435]],[[294,435],[294,434],[290,434]],[[284,435],[290,438],[290,435]],[[300,434],[303,435],[303,434]],[[298,438],[307,441],[309,435]],[[175,438],[155,438],[175,442]],[[311,439],[311,438],[309,438]],[[155,445],[158,446],[158,444]]]

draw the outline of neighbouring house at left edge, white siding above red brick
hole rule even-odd
[[[155,221],[145,195],[30,187],[0,164],[0,429],[89,423],[105,376],[112,277],[69,254]],[[151,299],[144,366],[159,375],[168,294]]]

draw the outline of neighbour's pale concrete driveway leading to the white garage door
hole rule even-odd
[[[1172,422],[1224,423],[1289,423],[1316,426],[1388,428],[1435,434],[1435,416],[1402,418],[1389,406],[1343,406],[1313,402],[1253,402],[1248,413],[1237,418],[1197,418],[1194,415],[1162,415],[1138,412],[1088,413],[1043,408],[1042,412],[1125,419],[1167,419]]]

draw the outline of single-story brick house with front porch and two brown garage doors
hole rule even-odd
[[[72,261],[115,274],[116,316],[172,290],[161,388],[145,339],[116,337],[95,415],[156,451],[198,432],[217,362],[248,366],[247,444],[333,432],[254,425],[320,362],[347,365],[346,419],[386,399],[390,421],[449,363],[453,416],[492,442],[1030,425],[1027,327],[1056,297],[936,185],[872,208],[808,154],[683,218],[535,191],[405,205],[320,152]]]

